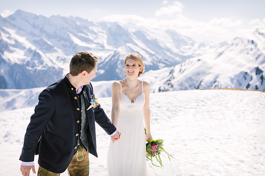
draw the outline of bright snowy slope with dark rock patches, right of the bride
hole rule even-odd
[[[265,90],[265,32],[237,37],[216,52],[145,73],[152,92],[188,89],[242,88]]]

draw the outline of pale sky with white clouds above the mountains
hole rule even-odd
[[[21,9],[37,15],[79,16],[89,20],[137,22],[173,28],[200,42],[232,40],[265,26],[264,0],[1,0],[0,14]]]

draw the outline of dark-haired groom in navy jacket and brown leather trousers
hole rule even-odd
[[[92,53],[76,53],[69,74],[40,93],[19,158],[23,176],[29,176],[31,169],[36,173],[35,154],[39,154],[40,176],[59,176],[66,169],[70,176],[88,175],[88,153],[97,157],[95,122],[113,143],[120,139],[120,133],[97,103],[90,83],[98,61]]]

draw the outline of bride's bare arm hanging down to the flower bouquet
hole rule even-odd
[[[146,141],[148,141],[150,138],[152,138],[151,131],[150,131],[150,103],[149,103],[149,97],[150,97],[150,84],[148,82],[144,81],[144,93],[145,93],[145,105],[143,107],[143,118],[145,121],[145,130],[146,130]]]

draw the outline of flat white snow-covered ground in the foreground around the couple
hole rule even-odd
[[[99,98],[110,116],[111,98]],[[239,90],[185,90],[150,94],[151,132],[175,157],[151,176],[265,175],[265,93]],[[21,175],[19,155],[34,107],[0,112],[1,175]],[[110,137],[97,126],[98,158],[90,155],[90,175],[107,176]],[[137,145],[132,144],[132,150]],[[37,170],[38,156],[35,157]],[[37,175],[31,173],[31,175]],[[67,176],[67,172],[61,174]]]

